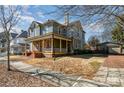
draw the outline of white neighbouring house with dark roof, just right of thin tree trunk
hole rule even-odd
[[[11,41],[11,54],[24,54],[25,51],[29,49],[29,44],[25,41],[27,35],[27,31],[22,30],[22,32]]]

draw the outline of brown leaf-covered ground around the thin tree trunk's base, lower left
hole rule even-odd
[[[6,65],[0,64],[0,87],[53,87],[53,85],[19,71],[7,71]]]

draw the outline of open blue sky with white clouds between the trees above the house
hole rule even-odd
[[[47,5],[35,5],[35,6],[22,6],[22,13],[21,13],[21,20],[18,23],[18,25],[14,28],[16,32],[20,32],[21,30],[28,30],[30,24],[32,21],[38,21],[38,22],[45,22],[48,19],[54,19],[60,23],[64,22],[64,16],[56,19],[55,15],[46,15],[44,13],[51,12],[55,10],[55,6],[47,6]],[[76,21],[76,17],[70,16],[70,22]],[[101,31],[103,31],[102,24],[93,25],[91,24],[85,24],[82,23],[82,27],[85,34],[85,40],[87,41],[88,38],[92,35],[98,35]]]

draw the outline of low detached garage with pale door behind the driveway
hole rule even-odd
[[[122,44],[104,42],[97,45],[97,49],[105,54],[122,54]]]

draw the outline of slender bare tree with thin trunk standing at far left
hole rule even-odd
[[[0,6],[0,26],[5,33],[7,41],[7,67],[10,71],[10,31],[15,27],[20,20],[19,6]]]

